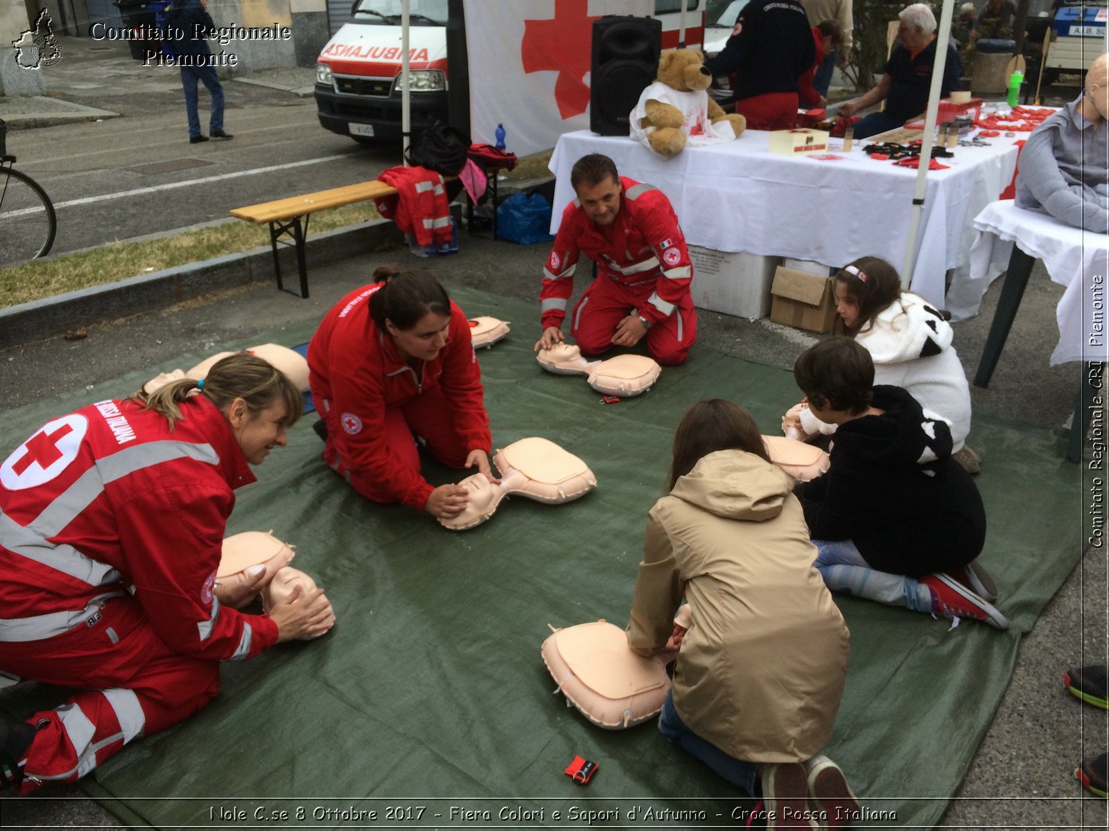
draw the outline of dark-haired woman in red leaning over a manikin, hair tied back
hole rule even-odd
[[[374,280],[327,312],[308,347],[324,459],[367,499],[457,516],[467,490],[431,486],[414,437],[447,466],[476,466],[492,481],[469,322],[426,271],[383,267]]]

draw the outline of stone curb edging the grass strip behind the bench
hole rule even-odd
[[[309,238],[305,243],[309,291],[313,268],[403,242],[404,234],[389,219],[375,219]],[[291,246],[284,247],[278,257],[285,286],[298,291],[295,252]],[[268,245],[10,306],[0,309],[0,350],[258,281],[273,281],[276,288]]]

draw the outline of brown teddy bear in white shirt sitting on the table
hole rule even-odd
[[[668,49],[658,78],[631,111],[631,137],[663,156],[678,155],[686,144],[739,137],[746,119],[726,115],[705,92],[711,83],[700,50]]]

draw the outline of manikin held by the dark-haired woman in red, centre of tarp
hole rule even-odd
[[[558,504],[584,496],[597,485],[597,478],[583,461],[538,437],[512,442],[497,451],[492,461],[500,471],[500,484],[494,484],[484,473],[459,482],[470,491],[470,501],[458,516],[439,520],[445,527],[465,531],[480,525],[509,494]]]

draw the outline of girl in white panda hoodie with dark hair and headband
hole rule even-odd
[[[953,455],[977,473],[977,454],[965,447],[970,431],[970,388],[952,346],[950,324],[923,297],[902,291],[897,269],[878,257],[859,257],[836,275],[833,335],[854,338],[874,361],[874,383],[901,387],[927,411],[950,425]],[[806,402],[782,419],[794,439],[834,432],[816,419]]]

